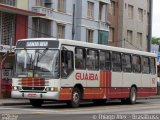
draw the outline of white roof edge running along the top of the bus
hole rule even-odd
[[[59,41],[59,44],[64,45],[71,45],[71,46],[80,46],[80,47],[88,47],[88,48],[96,48],[96,49],[103,49],[103,50],[110,50],[110,51],[117,51],[122,53],[131,53],[131,54],[138,54],[144,56],[152,56],[157,57],[155,53],[145,52],[140,50],[133,50],[127,48],[120,48],[120,47],[113,47],[108,45],[100,45],[95,43],[86,43],[84,41],[77,41],[77,40],[69,40],[69,39],[57,39],[57,38],[29,38],[29,39],[20,39],[18,41],[32,41],[32,40],[48,40],[48,41]]]

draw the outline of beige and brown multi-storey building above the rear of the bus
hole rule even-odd
[[[152,0],[112,0],[109,45],[150,51]]]

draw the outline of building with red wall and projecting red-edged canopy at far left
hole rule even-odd
[[[0,97],[10,93],[14,63],[12,48],[18,39],[28,37],[28,16],[45,16],[28,11],[27,3],[27,0],[0,0]]]

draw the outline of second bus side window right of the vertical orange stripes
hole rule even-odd
[[[122,68],[123,72],[131,72],[131,56],[129,54],[122,55]]]

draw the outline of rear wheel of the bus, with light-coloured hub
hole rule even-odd
[[[132,87],[131,90],[130,90],[128,103],[129,104],[135,104],[136,103],[136,98],[137,98],[137,89],[135,87]]]

